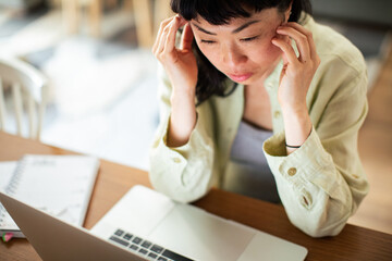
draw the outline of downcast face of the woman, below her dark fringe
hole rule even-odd
[[[281,50],[271,40],[281,37],[277,27],[283,22],[282,13],[272,8],[224,25],[211,25],[198,16],[191,26],[200,51],[220,72],[252,85],[268,76],[279,61]]]

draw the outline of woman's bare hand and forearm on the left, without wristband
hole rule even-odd
[[[176,32],[183,25],[185,26],[180,48],[176,48]],[[173,86],[167,137],[169,147],[185,145],[196,125],[197,63],[192,51],[192,41],[191,25],[180,15],[175,15],[161,23],[152,47],[154,54],[162,63]]]

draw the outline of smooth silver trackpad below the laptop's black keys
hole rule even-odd
[[[255,231],[188,204],[177,204],[148,236],[195,260],[236,260]]]

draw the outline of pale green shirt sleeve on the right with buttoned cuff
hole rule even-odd
[[[333,92],[324,95],[320,88],[313,107],[318,110],[320,99],[323,111],[313,119],[303,146],[286,156],[284,132],[264,145],[290,221],[314,237],[339,234],[368,192],[357,151],[358,130],[368,111],[366,69],[353,76],[344,73],[343,62],[333,65],[341,76],[323,76],[322,88]]]

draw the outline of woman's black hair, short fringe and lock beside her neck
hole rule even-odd
[[[249,17],[248,10],[260,12],[268,8],[278,8],[284,12],[292,3],[289,21],[299,22],[301,13],[311,13],[309,0],[171,0],[171,9],[189,21],[200,15],[213,25],[228,24],[231,18]],[[195,40],[193,49],[197,59],[198,76],[196,86],[197,103],[201,103],[212,95],[225,97],[234,91],[236,84],[228,90],[224,85],[226,76],[219,72],[201,53]]]

